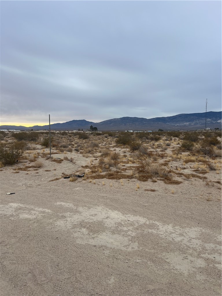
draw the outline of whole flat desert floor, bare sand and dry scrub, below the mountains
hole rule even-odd
[[[1,296],[221,295],[220,134],[36,133],[1,163]]]

